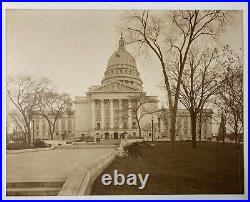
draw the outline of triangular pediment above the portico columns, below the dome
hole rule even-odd
[[[140,90],[136,89],[136,88],[133,88],[131,86],[127,86],[127,85],[124,85],[124,84],[121,84],[119,82],[112,82],[112,83],[109,83],[109,84],[106,84],[106,85],[101,85],[100,87],[98,88],[95,88],[93,90],[91,90],[90,93],[138,93],[138,92],[141,92]]]

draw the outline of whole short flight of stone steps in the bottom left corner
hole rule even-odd
[[[57,196],[65,180],[7,182],[7,196]]]

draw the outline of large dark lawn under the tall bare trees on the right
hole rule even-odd
[[[167,195],[167,194],[237,194],[243,187],[243,150],[235,144],[204,142],[193,149],[190,142],[176,142],[170,152],[169,142],[148,143],[138,147],[135,158],[117,157],[95,180],[92,195]],[[240,151],[240,153],[239,153]],[[240,155],[239,155],[240,154]],[[240,156],[240,161],[239,157]],[[241,162],[239,164],[239,162]],[[240,165],[240,167],[239,167]],[[240,168],[240,169],[239,169]],[[104,186],[103,174],[114,170],[125,176],[150,174],[147,186]],[[239,170],[241,183],[239,185]]]

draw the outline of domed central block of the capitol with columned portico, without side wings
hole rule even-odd
[[[146,96],[143,91],[135,58],[126,50],[121,36],[118,49],[108,60],[101,85],[89,87],[86,96],[75,97],[75,135],[99,135],[105,139],[138,136],[136,114],[132,109],[142,97],[150,102],[141,108],[156,112],[158,98]],[[139,116],[143,113],[140,110]],[[151,116],[155,115],[145,115],[140,124],[145,126]]]

